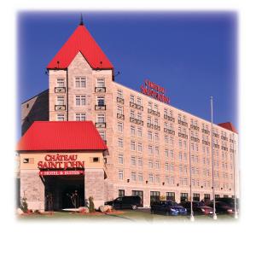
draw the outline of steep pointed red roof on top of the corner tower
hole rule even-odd
[[[83,25],[77,27],[71,37],[68,38],[67,42],[49,62],[47,68],[67,68],[79,51],[93,69],[113,69],[113,65],[108,60],[108,57]]]

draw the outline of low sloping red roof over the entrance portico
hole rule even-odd
[[[18,143],[18,151],[108,149],[92,121],[36,121]]]

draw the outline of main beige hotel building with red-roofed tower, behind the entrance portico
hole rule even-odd
[[[93,121],[109,152],[104,201],[140,195],[148,207],[159,198],[189,200],[189,167],[194,200],[212,199],[212,166],[215,197],[234,195],[238,134],[230,122],[212,128],[169,105],[164,89],[148,80],[141,92],[115,82],[112,63],[83,23],[47,69],[49,90],[21,105],[22,132],[35,120]]]

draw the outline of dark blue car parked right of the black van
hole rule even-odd
[[[151,203],[151,213],[163,212],[166,215],[186,215],[186,208],[175,201],[154,201]]]

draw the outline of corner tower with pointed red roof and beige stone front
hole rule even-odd
[[[96,93],[102,93],[106,100],[106,88],[113,81],[113,65],[83,22],[49,61],[47,69],[49,120],[96,122],[91,112],[96,105]]]

